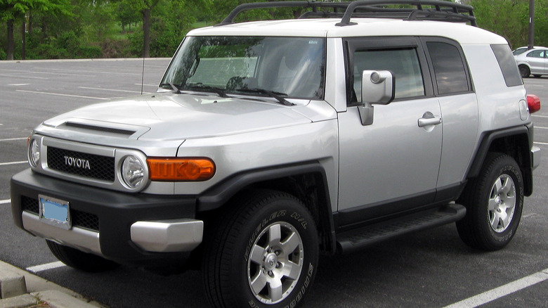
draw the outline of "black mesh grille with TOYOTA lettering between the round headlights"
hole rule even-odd
[[[115,180],[115,159],[48,147],[48,167],[59,172],[105,181]]]

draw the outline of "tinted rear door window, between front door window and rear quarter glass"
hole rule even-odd
[[[455,94],[470,91],[466,66],[456,46],[429,41],[426,43],[436,75],[438,94]]]

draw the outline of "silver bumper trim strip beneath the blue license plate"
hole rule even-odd
[[[57,226],[40,222],[38,216],[30,212],[22,212],[23,228],[41,238],[53,240],[61,245],[69,246],[83,252],[102,255],[99,243],[99,233],[86,229],[73,227],[63,230]]]

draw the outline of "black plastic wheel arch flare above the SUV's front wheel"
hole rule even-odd
[[[334,222],[325,169],[319,162],[283,165],[235,174],[197,198],[197,213],[215,215],[239,193],[266,188],[299,198],[311,212],[318,228],[320,250],[336,251]]]

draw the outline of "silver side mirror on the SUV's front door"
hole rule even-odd
[[[373,124],[372,104],[387,105],[396,95],[396,79],[388,70],[364,70],[362,72],[362,102],[358,107],[362,125]]]

